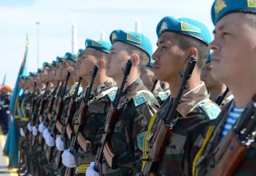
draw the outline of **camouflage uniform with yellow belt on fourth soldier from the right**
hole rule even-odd
[[[107,90],[110,92],[106,92]],[[90,100],[95,100],[90,103],[89,114],[86,117],[83,134],[85,134],[86,139],[92,143],[92,153],[88,154],[83,151],[82,148],[79,148],[78,153],[76,153],[78,157],[78,167],[75,171],[76,175],[84,176],[90,162],[95,161],[97,149],[102,137],[102,134],[99,134],[98,131],[104,130],[107,112],[109,111],[111,101],[114,100],[116,90],[117,87],[114,86],[113,79],[110,78],[100,84],[100,86],[93,91],[92,97],[90,97]],[[78,115],[74,116],[74,119],[77,120],[77,117]]]

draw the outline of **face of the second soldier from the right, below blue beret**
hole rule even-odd
[[[187,57],[178,46],[175,35],[173,32],[164,32],[157,40],[157,49],[152,55],[155,77],[164,82],[180,79],[178,71],[184,69],[184,57]]]

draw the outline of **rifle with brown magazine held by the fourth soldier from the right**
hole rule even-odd
[[[70,153],[73,154],[77,160],[76,157],[76,151],[78,151],[79,145],[77,142],[78,136],[82,136],[83,138],[86,138],[83,135],[83,128],[85,127],[85,121],[86,117],[89,112],[89,104],[90,104],[90,96],[92,95],[92,86],[93,83],[95,82],[95,77],[97,75],[97,71],[99,69],[99,65],[95,65],[93,68],[93,72],[91,72],[91,80],[90,80],[90,85],[86,90],[85,97],[83,97],[82,104],[80,105],[79,108],[79,117],[78,117],[78,126],[76,126],[76,129],[74,133],[72,133],[71,137],[71,143],[70,143]],[[68,128],[67,128],[67,133],[68,133]],[[82,147],[82,145],[80,145]],[[90,141],[85,140],[85,143],[83,144],[83,150],[85,150],[87,153],[90,153],[92,150],[92,144]],[[78,163],[78,161],[76,161]],[[74,168],[66,168],[65,176],[72,176],[74,172]]]

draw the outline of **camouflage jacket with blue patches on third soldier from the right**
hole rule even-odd
[[[137,78],[124,90],[120,100],[120,104],[122,103],[123,106],[119,111],[111,138],[113,151],[119,158],[119,164],[118,168],[113,170],[107,164],[106,158],[103,157],[102,171],[107,176],[133,175],[134,168],[142,157],[143,139],[149,121],[159,108],[156,98],[143,85],[140,78]]]

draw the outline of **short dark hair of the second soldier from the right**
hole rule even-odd
[[[176,39],[179,40],[179,47],[182,50],[186,50],[189,48],[196,48],[198,51],[197,56],[197,65],[198,69],[201,72],[203,70],[204,65],[206,64],[206,60],[210,54],[210,49],[206,45],[206,43],[201,40],[194,38],[192,36],[183,35],[180,33],[176,33]]]

